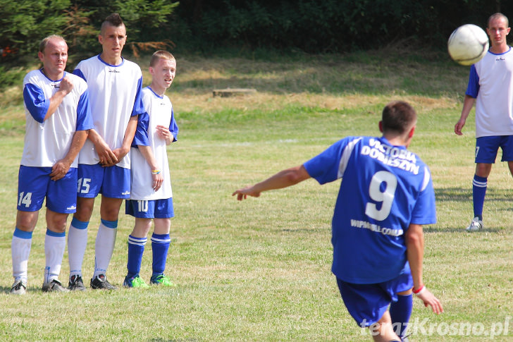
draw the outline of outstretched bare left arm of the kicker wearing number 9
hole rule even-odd
[[[235,190],[232,196],[237,195],[237,200],[245,200],[247,196],[259,197],[260,193],[267,190],[287,188],[296,185],[299,182],[310,178],[307,169],[299,165],[276,173],[276,175],[267,178],[265,181],[255,185],[247,186],[239,190]]]

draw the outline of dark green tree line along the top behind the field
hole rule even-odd
[[[63,35],[77,59],[98,52],[99,25],[112,12],[125,20],[135,54],[162,47],[342,53],[403,41],[445,48],[459,25],[484,28],[497,11],[513,18],[513,1],[501,0],[0,0],[0,8],[4,71],[34,61],[49,34]]]

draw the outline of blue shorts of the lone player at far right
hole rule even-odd
[[[513,135],[496,135],[476,139],[476,163],[494,164],[497,151],[502,149],[500,161],[513,161]]]

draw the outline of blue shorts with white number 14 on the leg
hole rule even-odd
[[[51,167],[20,166],[18,172],[18,210],[37,212],[46,197],[52,212],[70,214],[77,211],[77,168],[71,167],[58,181],[49,177]]]

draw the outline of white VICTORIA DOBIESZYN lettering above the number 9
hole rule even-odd
[[[362,155],[381,161],[383,164],[397,167],[404,171],[419,174],[419,166],[416,164],[416,156],[407,149],[395,146],[383,145],[379,140],[370,139],[369,145],[361,148]]]

